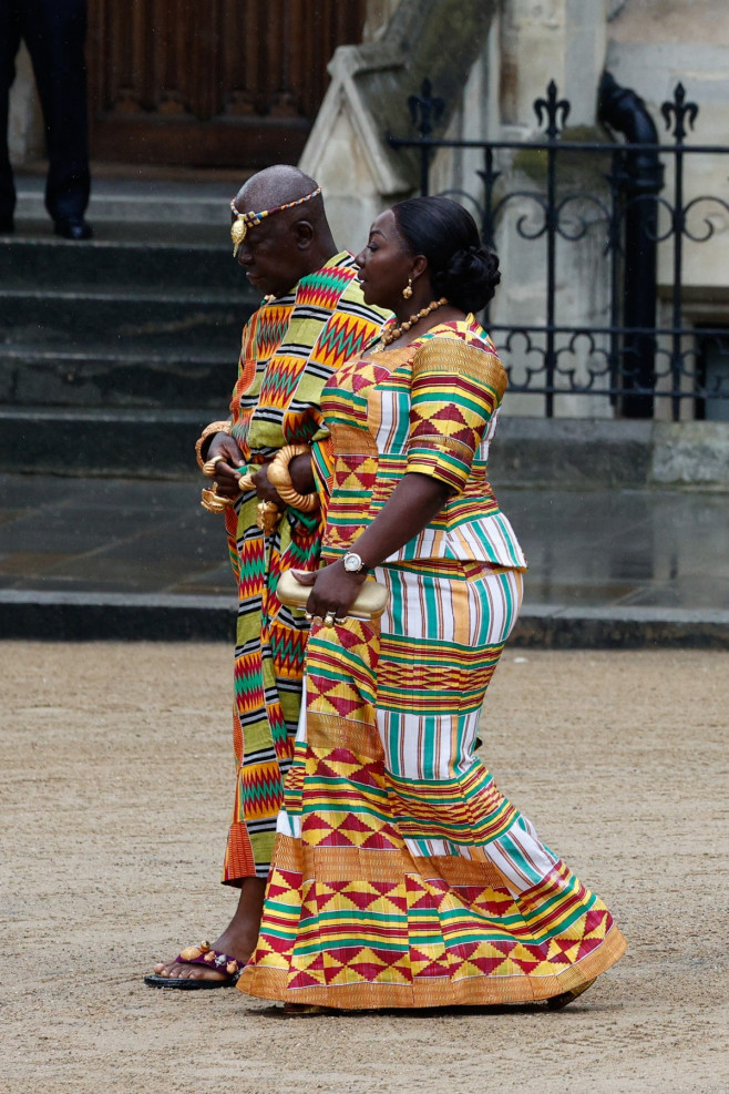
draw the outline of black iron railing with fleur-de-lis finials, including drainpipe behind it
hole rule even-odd
[[[645,103],[609,75],[600,85],[599,115],[612,132],[625,134],[625,142],[564,140],[571,108],[559,99],[554,82],[546,96],[534,103],[543,127],[534,142],[433,140],[432,122],[443,103],[433,96],[428,81],[408,105],[419,135],[388,140],[394,149],[417,151],[421,193],[430,192],[439,149],[480,150],[478,193],[441,193],[475,211],[490,246],[503,243],[503,233],[511,231],[524,242],[522,246],[541,247],[535,262],[544,285],[544,321],[492,324],[486,316],[510,371],[511,391],[543,396],[547,417],[555,412],[555,399],[565,395],[608,398],[625,417],[651,417],[656,398],[670,400],[675,420],[686,400],[694,403],[694,417],[727,417],[716,408],[729,407],[722,402],[729,399],[729,309],[726,326],[699,326],[701,310],[691,300],[692,318],[687,319],[684,276],[687,241],[706,243],[718,238],[720,231],[729,238],[729,187],[723,196],[707,194],[689,201],[685,196],[688,184],[695,188],[691,171],[700,159],[726,157],[729,147],[686,144],[699,109],[687,102],[680,83],[672,101],[661,106],[670,144],[659,142]],[[543,180],[510,188],[510,180],[524,177],[517,170],[524,153],[532,155]],[[723,162],[729,168],[729,160]],[[599,178],[593,190],[574,190],[563,165],[573,174],[579,174],[581,165],[593,172],[597,165]],[[666,166],[671,201],[661,195]],[[589,233],[602,235],[602,257],[589,276],[604,286],[606,321],[561,323],[558,251]],[[671,280],[666,284],[663,278],[659,285],[658,256],[665,264],[661,248],[666,247],[671,249]],[[502,293],[509,290],[509,269],[504,280]],[[658,321],[659,310],[666,321]]]

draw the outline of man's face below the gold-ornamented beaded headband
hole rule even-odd
[[[245,203],[238,208],[248,212]],[[286,212],[274,213],[248,228],[238,249],[238,262],[261,296],[284,296],[294,288],[301,276],[301,252]]]

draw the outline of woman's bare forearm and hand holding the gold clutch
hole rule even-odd
[[[440,479],[418,472],[405,474],[381,512],[352,544],[352,550],[360,555],[367,570],[379,566],[422,532],[441,511],[450,493],[450,488]],[[348,573],[341,560],[317,573],[302,574],[297,571],[301,584],[312,586],[308,611],[322,617],[327,612],[346,615],[366,576],[364,572]]]

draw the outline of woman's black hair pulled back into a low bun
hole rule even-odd
[[[501,280],[499,258],[468,209],[448,197],[412,197],[392,212],[411,252],[428,259],[434,295],[462,311],[485,307]]]

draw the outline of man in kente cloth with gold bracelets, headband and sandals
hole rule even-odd
[[[321,514],[309,446],[326,436],[321,389],[387,318],[364,304],[352,256],[337,252],[312,178],[268,167],[243,186],[232,213],[234,253],[265,299],[243,331],[230,418],[204,430],[197,456],[215,480],[203,503],[225,514],[238,586],[237,785],[223,882],[240,893],[217,938],[154,967],[145,983],[155,988],[230,986],[255,948],[308,633],[304,613],[281,606],[276,586],[284,570],[317,569]],[[268,478],[273,461],[278,489]]]

